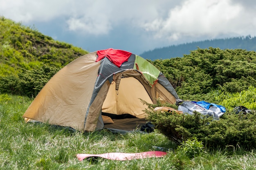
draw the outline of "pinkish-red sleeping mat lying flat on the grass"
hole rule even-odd
[[[132,159],[143,159],[150,157],[164,157],[167,153],[162,151],[148,151],[140,153],[104,153],[104,154],[77,154],[76,157],[79,161],[83,161],[85,158],[95,158],[101,157],[105,159],[118,160],[118,161],[127,161]]]

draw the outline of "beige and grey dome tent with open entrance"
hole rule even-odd
[[[99,50],[58,71],[23,117],[26,122],[39,121],[81,132],[130,130],[128,125],[145,121],[143,110],[147,106],[141,99],[150,104],[157,99],[174,104],[179,97],[166,77],[142,57],[118,49]],[[123,128],[116,127],[118,122]]]

